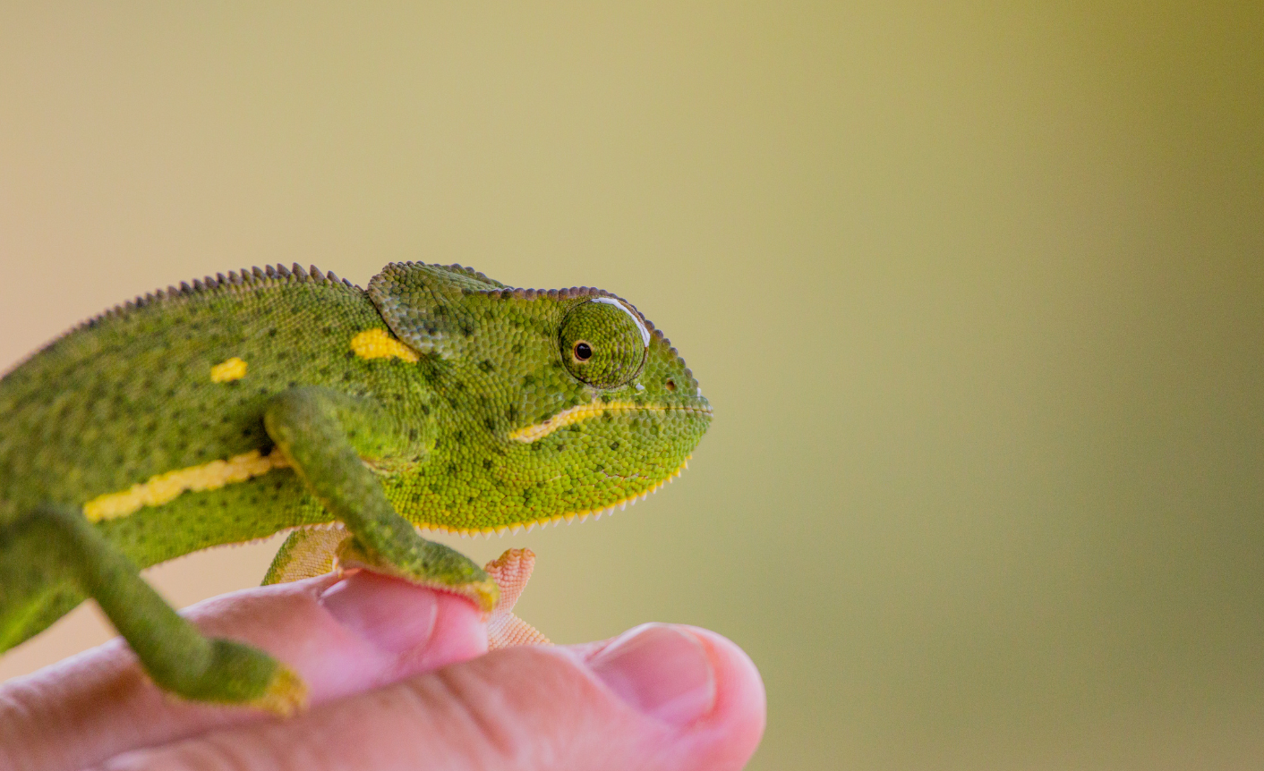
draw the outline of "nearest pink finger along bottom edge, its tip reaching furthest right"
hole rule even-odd
[[[763,729],[750,659],[703,629],[495,651],[281,723],[115,757],[140,768],[741,768]]]

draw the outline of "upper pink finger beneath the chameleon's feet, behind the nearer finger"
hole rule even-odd
[[[468,600],[370,573],[214,598],[205,632],[253,643],[296,670],[313,704],[473,659],[487,631]],[[0,686],[0,767],[82,768],[126,750],[265,720],[161,691],[121,640]]]

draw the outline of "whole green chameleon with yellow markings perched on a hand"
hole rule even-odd
[[[368,291],[295,265],[147,294],[0,380],[0,651],[91,597],[164,690],[284,714],[297,675],[201,636],[138,570],[292,530],[268,581],[336,552],[488,614],[494,578],[417,528],[599,514],[678,475],[710,417],[602,289],[394,263]]]

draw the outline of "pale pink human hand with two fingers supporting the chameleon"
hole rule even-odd
[[[291,664],[288,720],[178,701],[115,640],[0,686],[0,768],[404,771],[741,768],[763,732],[758,671],[705,629],[487,651],[468,600],[355,573],[188,612]]]

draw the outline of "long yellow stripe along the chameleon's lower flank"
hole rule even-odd
[[[281,454],[281,450],[273,450],[268,455],[250,450],[228,460],[212,460],[200,466],[158,474],[121,493],[97,495],[83,504],[83,516],[87,517],[88,522],[118,519],[147,506],[169,503],[183,493],[216,490],[224,485],[245,482],[262,477],[273,469],[288,466],[289,461]]]

